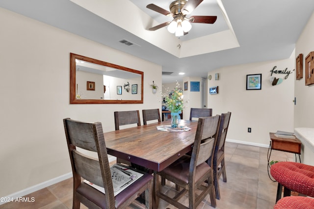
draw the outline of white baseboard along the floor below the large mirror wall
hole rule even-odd
[[[64,174],[62,176],[59,176],[59,177],[56,177],[54,179],[51,179],[51,180],[48,180],[46,182],[43,182],[43,183],[38,183],[36,185],[33,185],[31,187],[28,187],[26,189],[23,189],[21,191],[18,191],[18,192],[15,192],[13,194],[10,194],[10,195],[7,195],[6,197],[4,197],[4,199],[16,199],[18,197],[23,197],[27,194],[30,194],[32,192],[35,192],[37,190],[40,190],[40,189],[43,189],[47,186],[51,186],[52,184],[55,184],[55,183],[58,183],[58,182],[61,182],[63,180],[66,180],[66,179],[69,179],[71,178],[73,175],[72,175],[72,172],[71,173],[67,173],[67,174]],[[0,202],[0,205],[4,204],[5,202]]]

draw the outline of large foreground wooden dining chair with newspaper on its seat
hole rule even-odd
[[[146,208],[152,208],[153,176],[147,173],[114,196],[101,123],[83,123],[65,118],[63,124],[73,172],[73,209],[79,209],[80,203],[88,208],[124,209],[143,192]],[[98,158],[82,154],[77,148],[95,152]],[[104,187],[105,193],[82,182],[81,178]]]

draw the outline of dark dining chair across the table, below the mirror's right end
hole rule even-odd
[[[137,124],[141,126],[138,110],[116,111],[114,112],[115,130],[120,130],[120,126]]]

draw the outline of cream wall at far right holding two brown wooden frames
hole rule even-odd
[[[295,58],[303,53],[303,78],[294,81],[296,105],[294,106],[294,127],[314,128],[314,84],[305,85],[305,57],[314,51],[314,14],[301,33],[296,46]],[[301,160],[305,164],[314,165],[313,149],[302,145]]]

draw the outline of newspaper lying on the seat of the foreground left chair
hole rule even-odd
[[[143,174],[133,171],[127,167],[124,167],[120,164],[114,164],[110,166],[110,173],[113,185],[113,193],[114,196],[119,194],[133,182],[135,182],[138,178],[142,177]],[[88,182],[87,180],[83,180],[84,183],[96,188],[97,190],[105,193],[105,188]]]

